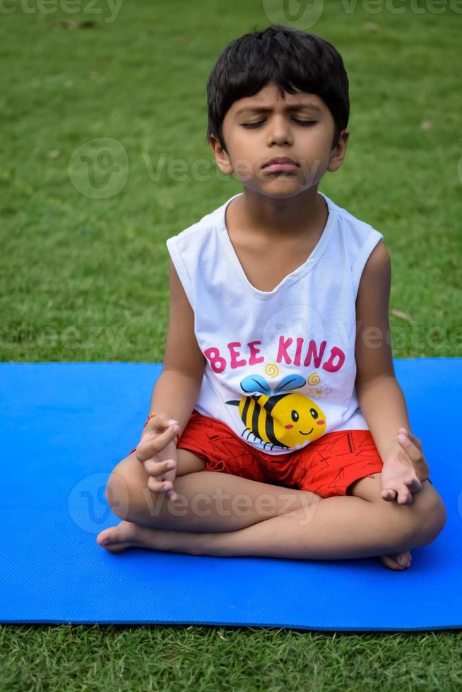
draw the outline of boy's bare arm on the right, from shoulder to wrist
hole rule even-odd
[[[400,448],[399,428],[410,431],[408,408],[396,381],[391,354],[389,299],[391,265],[383,241],[362,272],[356,299],[356,393],[382,461]]]

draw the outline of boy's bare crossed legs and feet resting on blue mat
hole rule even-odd
[[[214,556],[384,558],[432,542],[446,522],[442,499],[427,481],[411,505],[398,505],[381,499],[380,474],[355,482],[351,496],[321,498],[225,473],[192,471],[175,479],[178,499],[172,502],[150,491],[147,477],[140,477],[146,475],[143,467],[129,459],[121,462],[123,473],[114,469],[107,489],[114,513],[126,520],[97,537],[112,552],[147,547]],[[207,508],[199,507],[201,500]]]

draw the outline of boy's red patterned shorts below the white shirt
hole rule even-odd
[[[323,435],[287,454],[251,448],[221,421],[196,410],[177,443],[206,462],[204,471],[220,471],[262,483],[309,490],[321,497],[346,495],[360,478],[381,473],[383,462],[369,430]]]

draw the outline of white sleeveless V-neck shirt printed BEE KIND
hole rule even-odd
[[[367,430],[355,391],[355,300],[383,235],[319,193],[328,220],[314,250],[261,291],[225,225],[227,205],[242,194],[166,241],[206,357],[196,410],[268,454],[332,431]]]

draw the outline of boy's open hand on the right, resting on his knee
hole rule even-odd
[[[403,439],[401,439],[403,437]],[[398,430],[398,445],[386,460],[381,472],[381,497],[386,501],[410,505],[413,493],[422,490],[430,469],[422,454],[422,442],[405,428]]]

